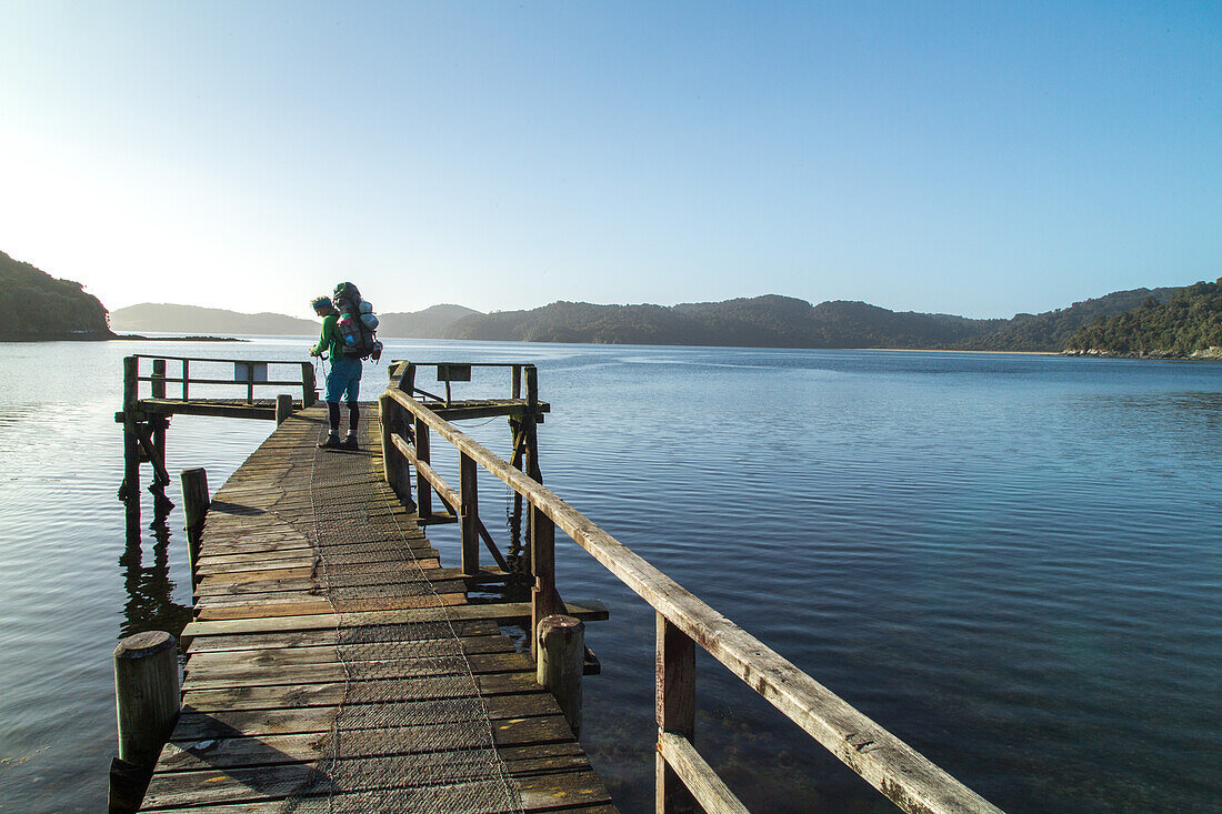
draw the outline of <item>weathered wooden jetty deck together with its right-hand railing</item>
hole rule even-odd
[[[213,496],[182,711],[142,810],[613,812],[574,736],[580,675],[596,671],[577,620],[606,611],[557,592],[557,528],[656,612],[657,739],[643,748],[657,812],[745,812],[695,748],[697,647],[902,810],[998,810],[544,486],[533,365],[489,365],[511,368],[511,394],[479,402],[451,398],[472,365],[429,365],[444,397],[417,386],[422,367],[393,363],[365,452],[318,451],[325,411],[304,394]],[[451,420],[477,416],[508,417],[510,461]],[[434,440],[458,451],[457,488],[431,466]],[[500,551],[480,521],[479,468],[512,490],[523,545]],[[458,523],[450,567],[422,530],[436,522]]]

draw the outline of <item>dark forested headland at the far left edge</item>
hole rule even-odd
[[[79,282],[0,252],[0,340],[111,339],[106,308]]]

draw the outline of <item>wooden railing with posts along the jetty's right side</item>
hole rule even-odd
[[[538,373],[522,365],[528,398],[538,401]],[[532,651],[538,651],[539,621],[563,612],[555,585],[555,529],[558,527],[604,567],[649,603],[656,612],[656,810],[745,812],[737,797],[700,757],[695,728],[695,647],[738,676],[786,717],[805,730],[849,769],[904,812],[998,812],[907,743],[859,713],[782,655],[734,625],[677,582],[620,543],[557,494],[494,455],[413,396],[414,365],[392,369],[382,395],[382,449],[387,480],[406,491],[406,466],[418,473],[418,497],[429,484],[456,507],[462,519],[463,571],[478,571],[478,497],[475,467],[524,497],[530,511]],[[517,394],[516,394],[517,395]],[[528,423],[533,429],[533,416]],[[404,428],[414,423],[414,442]],[[458,490],[429,466],[429,431],[459,453]],[[396,455],[396,452],[398,455]],[[418,500],[423,505],[423,500]]]

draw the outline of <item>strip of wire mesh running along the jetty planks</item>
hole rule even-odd
[[[368,455],[306,455],[308,466],[287,478],[309,479],[315,577],[338,616],[346,678],[321,754],[284,810],[521,812],[470,662],[413,552],[411,540],[422,538],[368,489]],[[368,612],[395,604],[420,610],[391,625]]]

